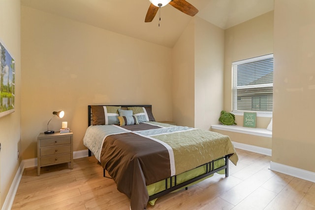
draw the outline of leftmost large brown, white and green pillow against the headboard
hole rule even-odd
[[[118,109],[121,106],[91,105],[93,113],[93,125],[119,124]]]

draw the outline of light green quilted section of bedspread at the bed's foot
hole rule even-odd
[[[157,124],[156,122],[150,123]],[[169,130],[172,132],[167,133],[164,130],[160,131],[160,135],[155,134],[150,135],[150,137],[161,140],[172,147],[176,175],[227,154],[233,154],[229,158],[234,165],[238,161],[234,146],[228,136],[181,126],[173,127],[173,129],[169,128]]]

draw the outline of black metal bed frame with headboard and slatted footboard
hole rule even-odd
[[[148,107],[149,106],[149,107],[152,107],[152,105],[113,105],[113,106],[122,106],[122,107],[128,107],[128,106],[144,106],[144,107]],[[92,125],[92,122],[93,122],[93,114],[92,114],[92,110],[91,110],[91,105],[88,105],[88,125],[89,126]],[[92,152],[91,152],[90,149],[89,149],[89,156],[92,156]],[[220,160],[220,159],[225,159],[225,165],[221,166],[220,168],[215,169],[214,163],[215,163],[215,161]],[[166,195],[166,194],[168,194],[168,193],[170,193],[172,191],[175,191],[177,189],[183,188],[183,187],[187,186],[188,184],[191,184],[191,183],[193,183],[193,182],[195,182],[197,180],[200,180],[200,179],[202,179],[204,177],[207,177],[209,175],[213,175],[213,174],[215,174],[215,173],[217,173],[217,172],[219,172],[221,170],[225,170],[225,177],[228,177],[228,155],[226,155],[225,157],[221,157],[221,158],[219,158],[217,160],[213,160],[211,162],[208,162],[206,164],[198,166],[197,168],[206,166],[206,172],[204,174],[202,174],[202,175],[196,176],[196,177],[194,177],[192,179],[189,179],[187,181],[184,181],[182,183],[177,184],[177,175],[174,175],[174,176],[166,178],[165,179],[165,190],[160,191],[160,192],[158,192],[158,193],[156,193],[154,195],[149,196],[149,201],[152,201],[152,200],[154,200],[154,199],[156,199],[158,197]],[[103,169],[103,176],[107,177],[107,176],[105,176],[105,169]],[[174,184],[173,184],[173,179],[174,179]],[[169,184],[168,184],[168,181],[170,182]],[[185,189],[187,190],[188,187],[185,187]]]

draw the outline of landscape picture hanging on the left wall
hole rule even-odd
[[[15,61],[0,40],[0,117],[14,112]]]

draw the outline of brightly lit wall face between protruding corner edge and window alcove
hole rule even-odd
[[[195,19],[195,126],[218,124],[223,106],[224,30]]]

